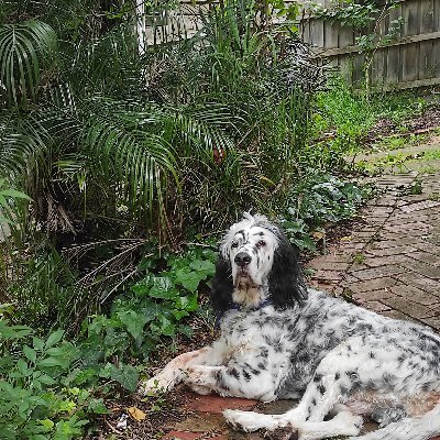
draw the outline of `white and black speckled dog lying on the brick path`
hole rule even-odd
[[[140,392],[185,382],[271,402],[300,398],[282,415],[226,410],[244,431],[277,428],[299,439],[361,433],[363,440],[425,440],[440,433],[440,337],[430,329],[306,288],[296,252],[263,216],[227,232],[212,280],[221,336],[170,361]]]

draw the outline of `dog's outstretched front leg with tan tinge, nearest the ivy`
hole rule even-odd
[[[146,395],[155,391],[168,391],[176,386],[184,378],[184,371],[194,363],[206,363],[212,353],[210,346],[200,350],[183,353],[169,361],[161,373],[156,374],[148,381],[141,382],[138,393]]]

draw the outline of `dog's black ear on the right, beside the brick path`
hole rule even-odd
[[[298,251],[278,232],[278,248],[268,275],[268,292],[276,308],[294,306],[307,298],[307,287],[298,264]]]

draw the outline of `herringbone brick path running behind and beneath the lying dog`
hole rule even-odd
[[[421,194],[408,188],[421,182]],[[384,189],[362,211],[350,237],[309,264],[311,284],[363,307],[395,318],[411,319],[440,330],[440,174],[415,173],[382,177]],[[187,392],[188,418],[166,428],[166,440],[262,440],[228,428],[224,408],[284,413],[292,402],[198,396]],[[366,430],[375,429],[367,424]],[[440,440],[437,437],[432,440]]]

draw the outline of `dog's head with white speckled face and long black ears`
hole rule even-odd
[[[220,244],[212,280],[217,312],[237,306],[257,308],[266,301],[284,308],[306,296],[296,250],[275,224],[249,213],[232,224]]]

